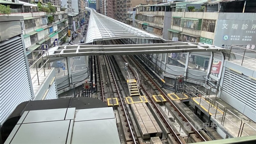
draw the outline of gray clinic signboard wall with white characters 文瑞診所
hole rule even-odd
[[[214,46],[230,49],[231,45],[255,44],[256,19],[253,13],[220,13],[215,30]],[[254,46],[255,47],[255,46]],[[245,48],[245,46],[244,46]],[[246,47],[247,48],[247,47]],[[253,46],[249,47],[253,48]],[[256,50],[255,48],[253,50]],[[232,51],[241,51],[232,48]]]

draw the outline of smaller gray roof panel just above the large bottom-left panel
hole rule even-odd
[[[29,111],[23,123],[64,120],[67,109]]]

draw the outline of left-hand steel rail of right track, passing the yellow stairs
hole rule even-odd
[[[123,58],[123,56],[121,56]],[[123,60],[125,61],[125,59],[123,58]],[[125,61],[127,62],[127,61]],[[130,69],[130,71],[132,72],[132,74],[135,76],[135,73],[133,72],[132,68],[128,65],[128,68]],[[178,135],[175,133],[175,131],[173,130],[172,126],[168,123],[167,119],[165,119],[164,115],[162,114],[162,112],[160,111],[160,109],[157,107],[156,103],[153,101],[153,99],[150,97],[150,95],[148,94],[147,90],[140,85],[140,87],[142,88],[142,90],[144,91],[144,93],[148,96],[148,99],[151,101],[151,103],[153,104],[154,108],[156,109],[157,113],[160,115],[161,119],[164,121],[164,124],[168,127],[168,129],[170,130],[170,132],[172,133],[172,135],[174,136],[175,140],[177,142],[179,142],[180,144],[182,144],[180,138],[178,137]]]

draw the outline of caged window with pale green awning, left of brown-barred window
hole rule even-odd
[[[192,20],[192,19],[182,19],[181,27],[193,29],[193,30],[201,30],[202,19]]]

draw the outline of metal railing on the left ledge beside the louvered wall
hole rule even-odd
[[[35,76],[37,76],[37,82],[38,82],[38,85],[40,85],[38,72],[41,69],[43,69],[44,70],[44,76],[45,76],[45,68],[46,67],[47,67],[47,69],[51,68],[50,59],[49,59],[49,53],[48,53],[48,51],[44,51],[44,50],[27,51],[27,52],[42,52],[42,53],[44,53],[38,59],[28,59],[28,61],[34,61],[33,64],[29,67],[29,69],[36,69],[36,74],[34,76],[31,76],[31,79],[33,79]],[[46,59],[44,58],[45,56],[46,56]],[[43,64],[41,64],[41,67],[38,68],[38,65],[40,63],[43,63]],[[47,64],[47,66],[46,66],[46,64]],[[36,67],[36,68],[34,68],[34,67]]]

